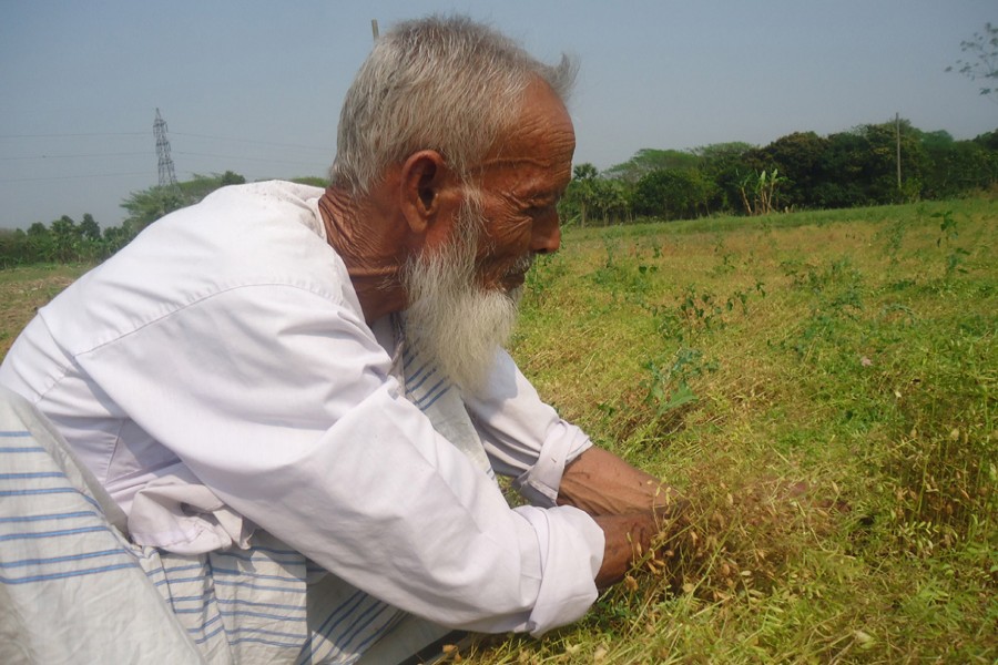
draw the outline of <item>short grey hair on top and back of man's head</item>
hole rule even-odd
[[[347,91],[329,178],[367,194],[391,164],[436,150],[468,180],[519,117],[527,86],[539,78],[564,101],[576,71],[567,55],[544,64],[465,17],[399,23],[377,40]]]

